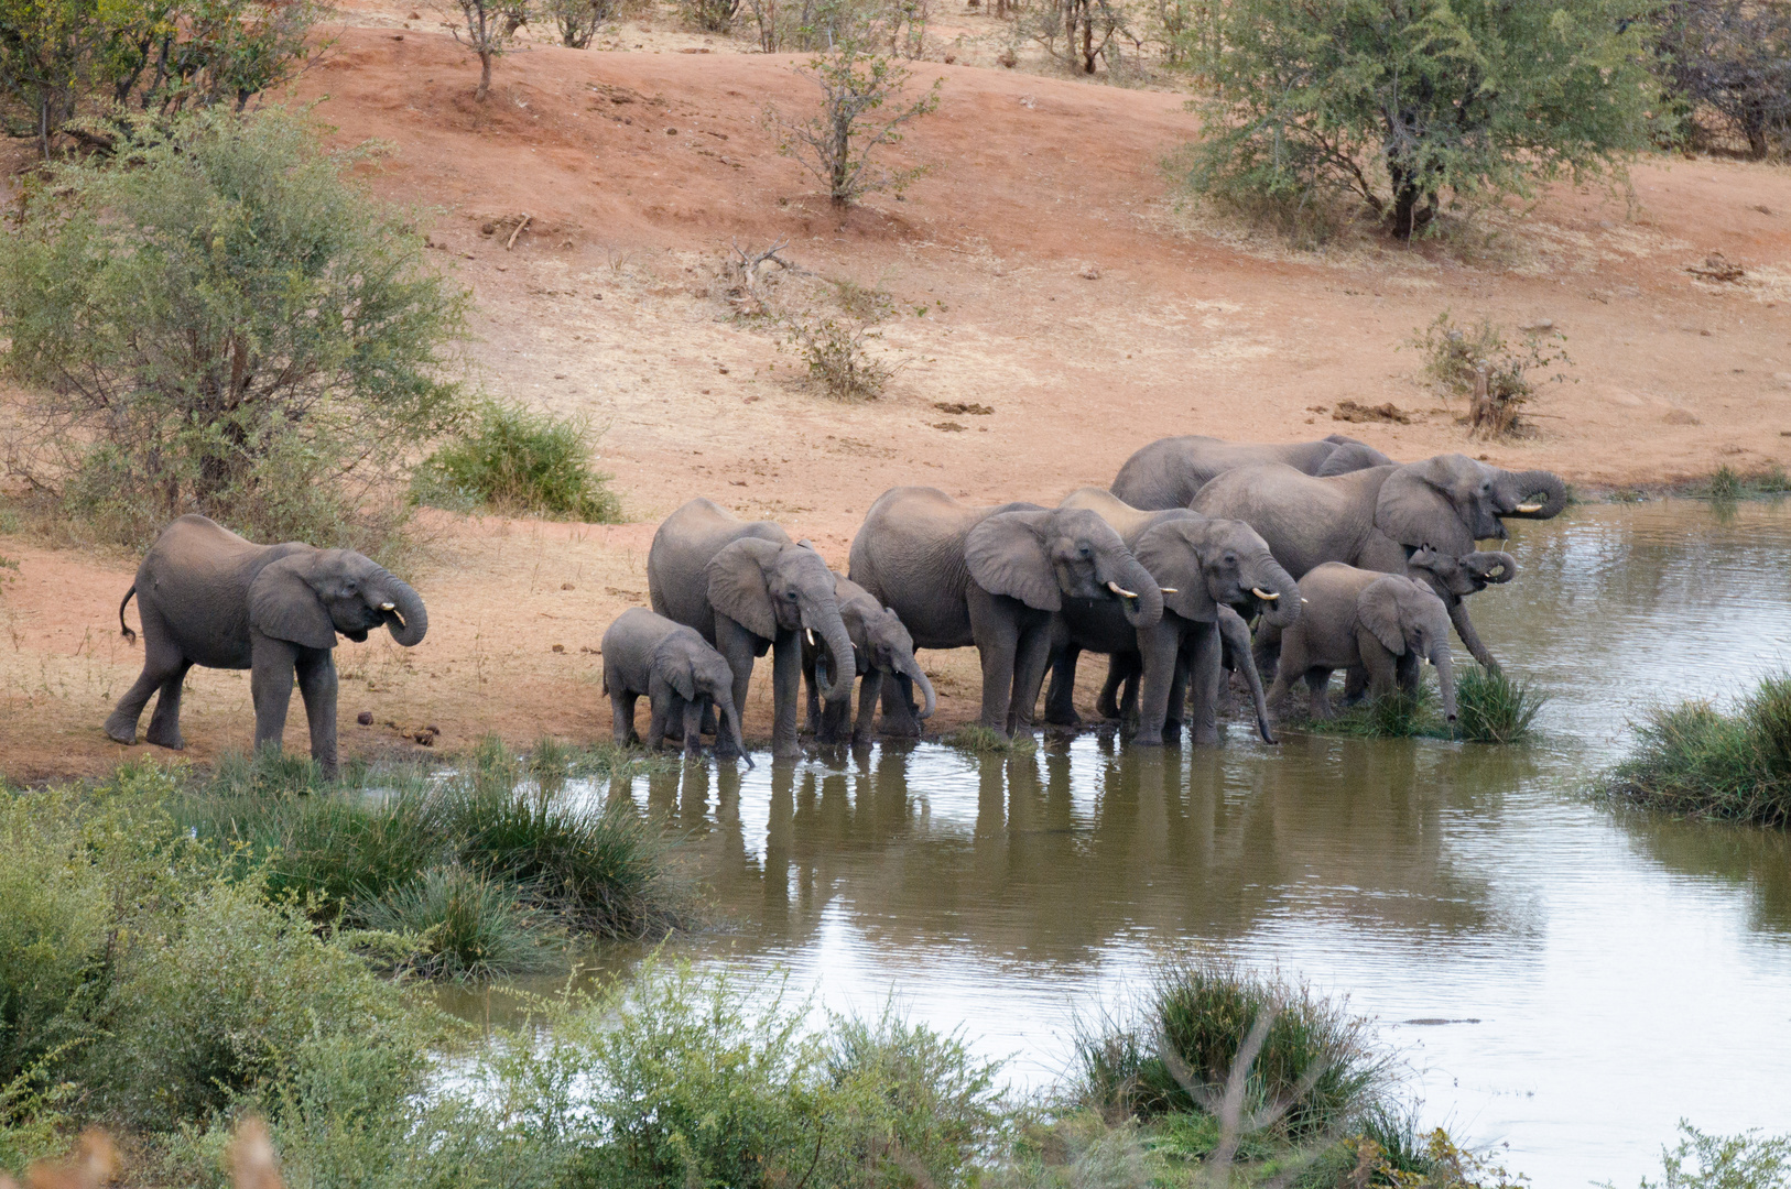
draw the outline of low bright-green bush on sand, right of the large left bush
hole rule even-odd
[[[491,509],[591,525],[621,519],[621,501],[591,467],[591,435],[580,423],[487,401],[476,419],[417,469],[419,503]]]

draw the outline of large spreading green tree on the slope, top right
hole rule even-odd
[[[1621,174],[1653,98],[1633,18],[1621,0],[1216,5],[1191,36],[1211,98],[1189,183],[1290,222],[1354,195],[1408,238],[1445,192]]]

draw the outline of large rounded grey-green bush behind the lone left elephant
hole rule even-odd
[[[0,242],[27,475],[125,544],[197,510],[378,552],[381,492],[460,414],[464,294],[297,118],[136,133],[129,159],[56,167]]]

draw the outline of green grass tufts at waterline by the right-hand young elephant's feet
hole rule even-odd
[[[1300,720],[1300,729],[1315,734],[1340,734],[1356,740],[1461,740],[1465,743],[1521,743],[1547,695],[1530,682],[1494,673],[1481,666],[1463,670],[1456,680],[1456,720],[1444,720],[1440,697],[1431,679],[1417,695],[1392,693],[1347,706],[1329,720]]]

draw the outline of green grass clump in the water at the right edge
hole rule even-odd
[[[1732,714],[1709,702],[1660,707],[1607,795],[1685,817],[1791,825],[1791,675],[1768,677]]]

